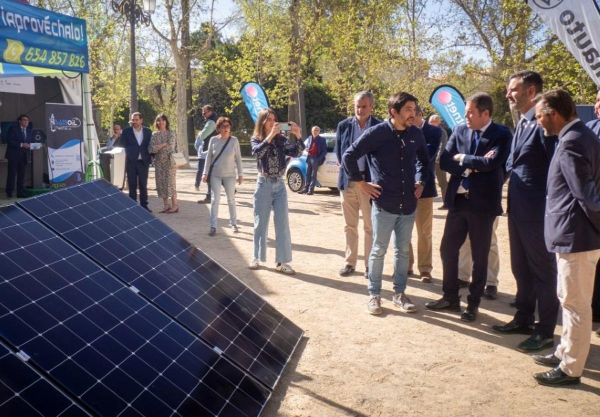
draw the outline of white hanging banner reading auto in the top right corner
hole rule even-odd
[[[527,0],[600,86],[600,0]]]

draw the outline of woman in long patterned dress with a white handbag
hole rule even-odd
[[[150,152],[154,153],[154,170],[156,177],[156,192],[163,199],[164,208],[158,213],[178,213],[177,189],[175,177],[177,168],[171,165],[171,154],[175,152],[177,138],[175,132],[169,130],[169,119],[164,114],[158,114],[154,120],[155,132],[150,138]],[[169,197],[172,205],[169,206]]]

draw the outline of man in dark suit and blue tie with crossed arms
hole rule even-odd
[[[502,214],[504,166],[511,147],[511,131],[492,122],[490,95],[476,93],[466,101],[466,125],[458,125],[448,139],[440,167],[451,174],[444,203],[448,216],[440,245],[443,297],[426,303],[432,310],[460,312],[458,250],[469,234],[473,280],[469,285],[463,321],[475,320],[487,279],[488,252],[496,216]]]

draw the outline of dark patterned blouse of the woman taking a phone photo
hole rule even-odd
[[[250,139],[252,155],[256,156],[256,166],[262,176],[277,179],[286,172],[286,156],[298,158],[304,152],[305,146],[301,140],[290,143],[284,135],[272,138],[271,143],[253,136]]]

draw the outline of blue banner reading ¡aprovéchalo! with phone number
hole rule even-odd
[[[0,61],[89,72],[83,19],[0,0]]]

